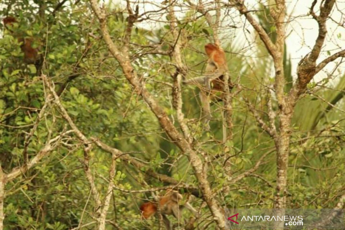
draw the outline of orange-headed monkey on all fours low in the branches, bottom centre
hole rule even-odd
[[[183,199],[182,195],[176,191],[167,193],[164,197],[162,197],[158,204],[162,214],[163,222],[166,229],[170,230],[170,221],[165,215],[173,215],[179,222],[182,219],[182,209],[187,208],[189,211],[198,216],[198,212],[191,206],[191,204],[187,201],[184,204],[181,204],[181,200]],[[157,203],[146,202],[141,204],[140,211],[141,216],[144,219],[150,218],[157,212]]]

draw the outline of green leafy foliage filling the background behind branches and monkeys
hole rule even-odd
[[[3,8],[2,15],[15,16],[19,22],[14,25],[16,33],[33,38],[34,46],[40,47],[45,58],[43,73],[55,83],[56,92],[61,90],[60,100],[73,122],[88,138],[100,139],[145,164],[137,168],[129,161],[117,159],[115,187],[140,190],[167,185],[148,176],[145,171],[149,169],[197,187],[188,158],[169,141],[146,102],[134,93],[136,89],[131,87],[119,63],[109,54],[88,4],[67,1],[65,6],[57,7],[56,0],[33,2],[4,1],[2,4],[10,7]],[[111,7],[107,26],[114,42],[121,46],[128,15],[120,8]],[[192,20],[192,12],[185,17],[178,21],[178,27],[183,62],[189,68],[186,77],[191,78],[204,70],[206,57],[200,44],[208,42],[212,31],[205,26],[204,19]],[[270,28],[274,40],[274,28],[267,17],[258,17],[262,24],[266,22],[264,26],[266,30]],[[51,136],[68,129],[68,125],[52,102],[48,103],[43,119],[35,123],[46,102],[47,89],[37,76],[36,67],[23,62],[16,36],[3,31],[0,39],[0,161],[3,171],[8,173],[23,165],[25,154],[32,159]],[[229,31],[224,32],[224,37],[226,33]],[[176,38],[172,37],[169,24],[162,24],[153,31],[137,26],[131,36],[132,66],[169,117],[176,119],[170,86],[175,66],[169,56],[154,52],[157,47],[162,53],[174,47]],[[212,104],[214,120],[209,132],[203,130],[199,122],[199,89],[183,86],[183,112],[186,119],[190,119],[188,126],[192,136],[198,140],[195,148],[207,153],[207,159],[203,160],[209,160],[208,179],[217,200],[227,208],[253,206],[253,203],[257,207],[272,207],[275,144],[258,127],[243,100],[247,98],[265,121],[268,120],[267,91],[262,86],[273,83],[270,78],[272,61],[262,46],[255,48],[257,56],[262,57],[259,60],[245,59],[236,42],[226,40],[222,46],[227,51],[231,80],[243,87],[234,94],[232,104],[233,140],[226,143],[231,148],[231,156],[220,158],[224,149],[219,144],[223,102]],[[284,57],[288,92],[293,74],[287,52]],[[344,109],[341,101],[344,79],[342,76],[334,87],[337,91],[311,86],[317,88],[317,97],[306,96],[296,106],[288,170],[290,207],[334,207],[334,197],[344,189],[343,111],[329,108],[329,103],[325,102],[332,101],[331,104]],[[276,111],[277,104],[273,106]],[[35,125],[37,129],[30,140],[26,140]],[[175,125],[178,126],[177,122]],[[94,221],[99,207],[92,199],[83,170],[83,148],[76,134],[69,134],[35,167],[7,183],[5,229],[70,229]],[[229,178],[231,181],[253,168],[265,153],[268,154],[264,163],[254,176],[229,184]],[[107,192],[110,161],[109,153],[93,147],[90,170],[101,198]],[[227,164],[231,167],[225,167]],[[230,189],[221,193],[224,187]],[[107,220],[122,229],[156,229],[158,220],[142,221],[138,210],[143,199],[152,200],[151,193],[126,193],[119,189],[112,192]],[[200,199],[193,205],[202,207],[198,224],[206,226],[209,210],[202,206]],[[190,213],[186,211],[184,216],[190,217]],[[176,223],[175,219],[171,221]],[[110,224],[108,228],[111,229]]]

